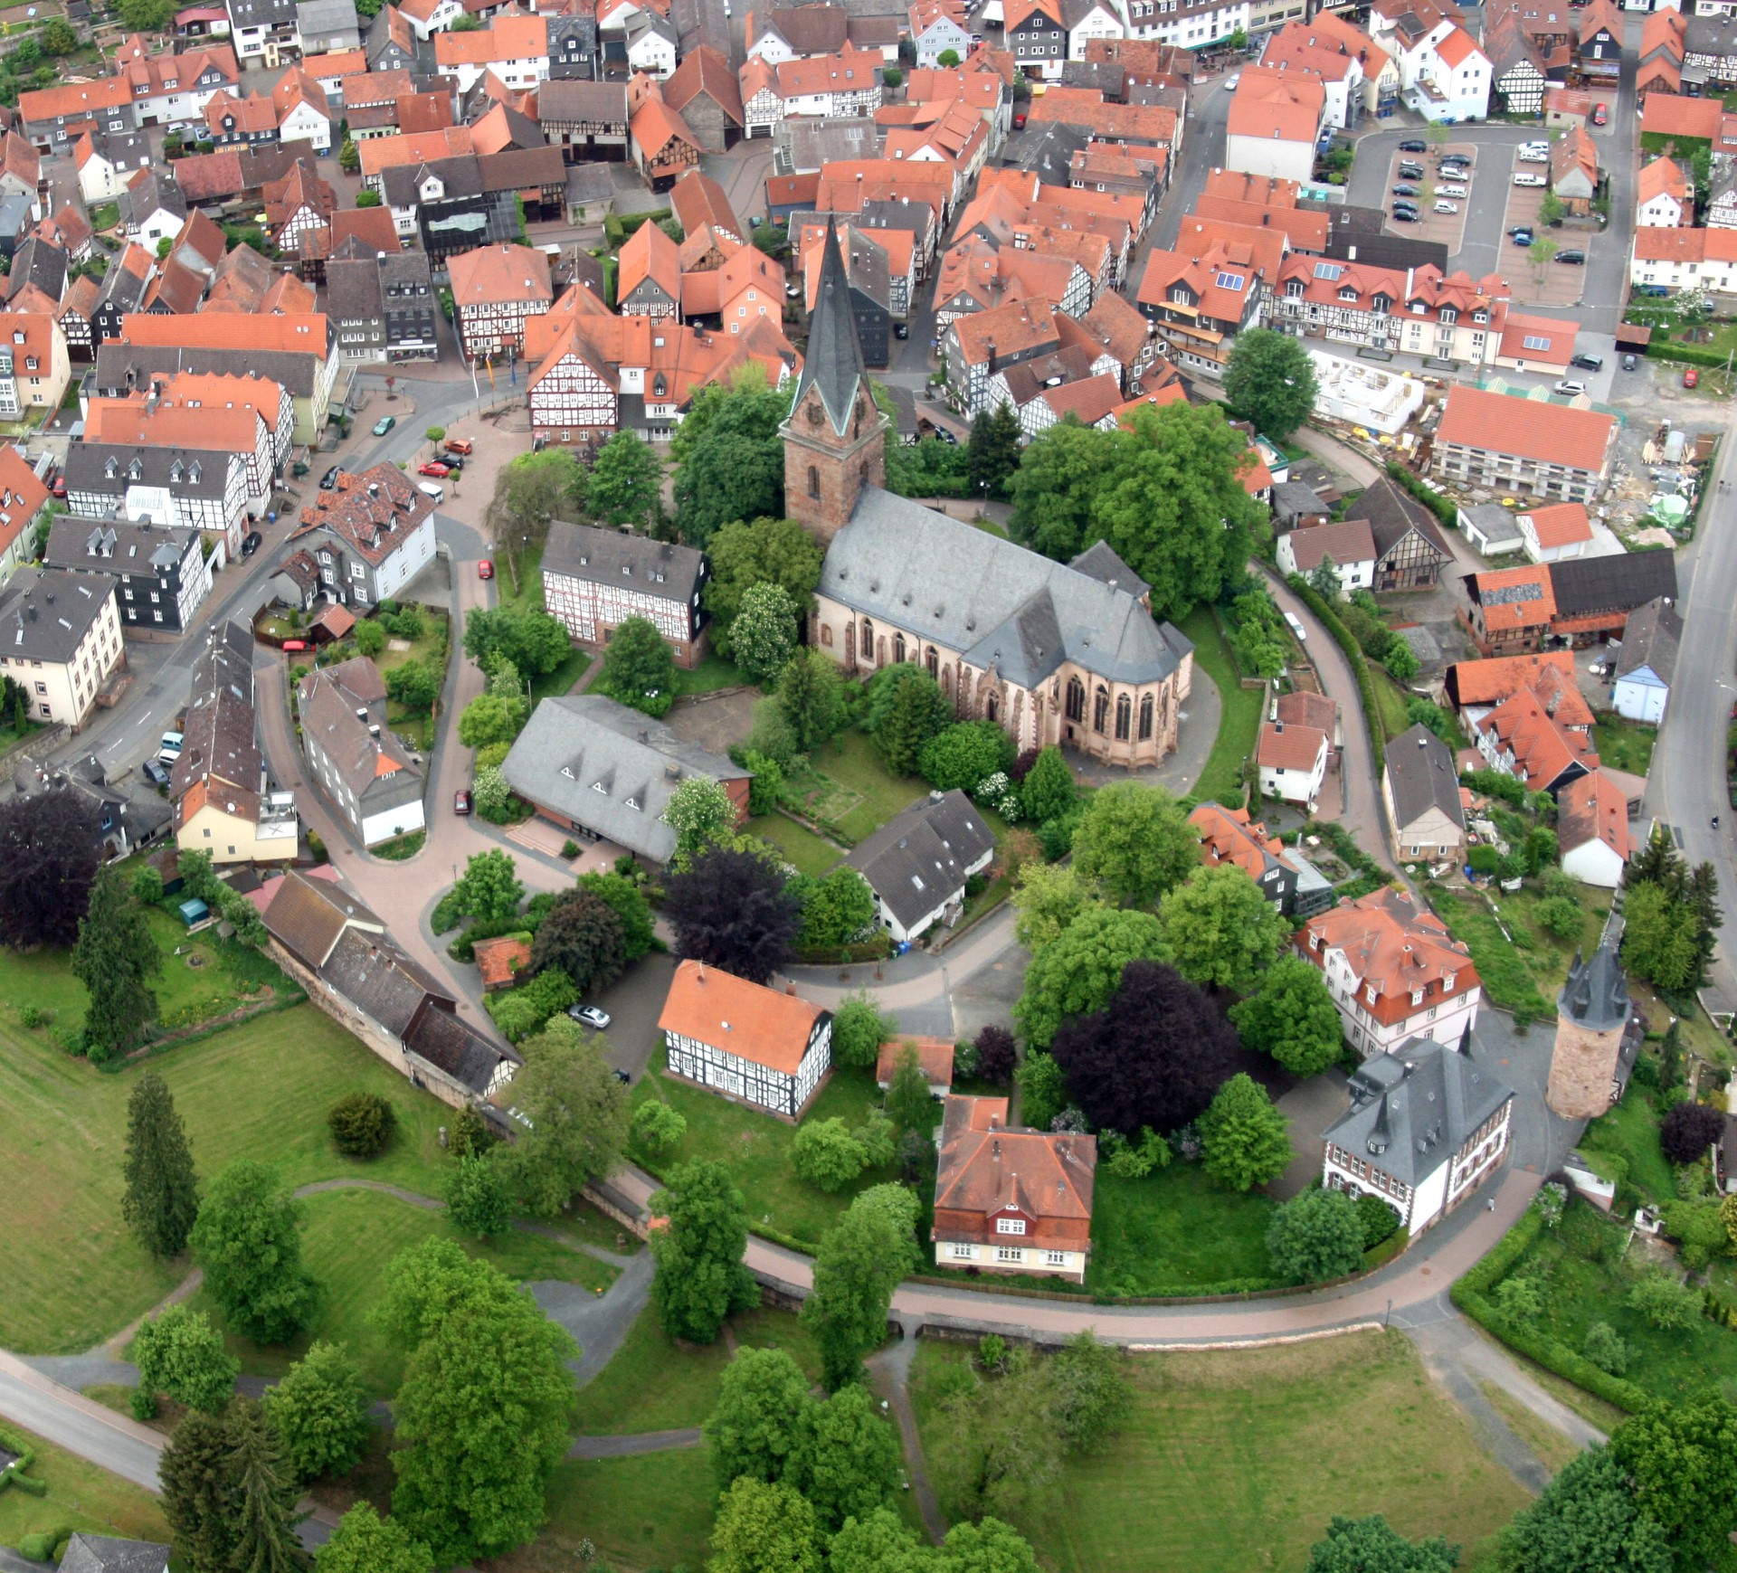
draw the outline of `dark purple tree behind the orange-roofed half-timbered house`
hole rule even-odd
[[[766,983],[789,964],[802,922],[796,892],[768,858],[712,847],[670,875],[664,903],[676,955]]]

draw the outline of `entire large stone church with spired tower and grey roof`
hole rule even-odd
[[[888,417],[868,389],[829,227],[808,352],[783,424],[785,512],[827,549],[808,642],[846,672],[919,661],[962,719],[1018,748],[1106,764],[1176,748],[1193,644],[1101,542],[1056,563],[884,488]]]

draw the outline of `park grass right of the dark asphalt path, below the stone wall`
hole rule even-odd
[[[787,1349],[820,1380],[820,1354],[802,1323],[789,1311],[757,1307],[730,1323],[742,1349]],[[578,1391],[578,1436],[636,1431],[681,1431],[703,1425],[717,1405],[717,1384],[730,1365],[730,1347],[681,1346],[664,1335],[657,1311],[639,1313],[615,1358]]]

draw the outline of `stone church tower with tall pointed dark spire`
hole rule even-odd
[[[808,358],[780,427],[783,510],[822,545],[844,528],[863,486],[886,481],[886,429],[863,370],[837,226],[829,222]]]

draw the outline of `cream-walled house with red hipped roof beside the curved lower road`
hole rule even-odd
[[[929,1229],[936,1266],[1084,1283],[1096,1177],[1096,1137],[1009,1127],[1004,1097],[947,1097]]]

